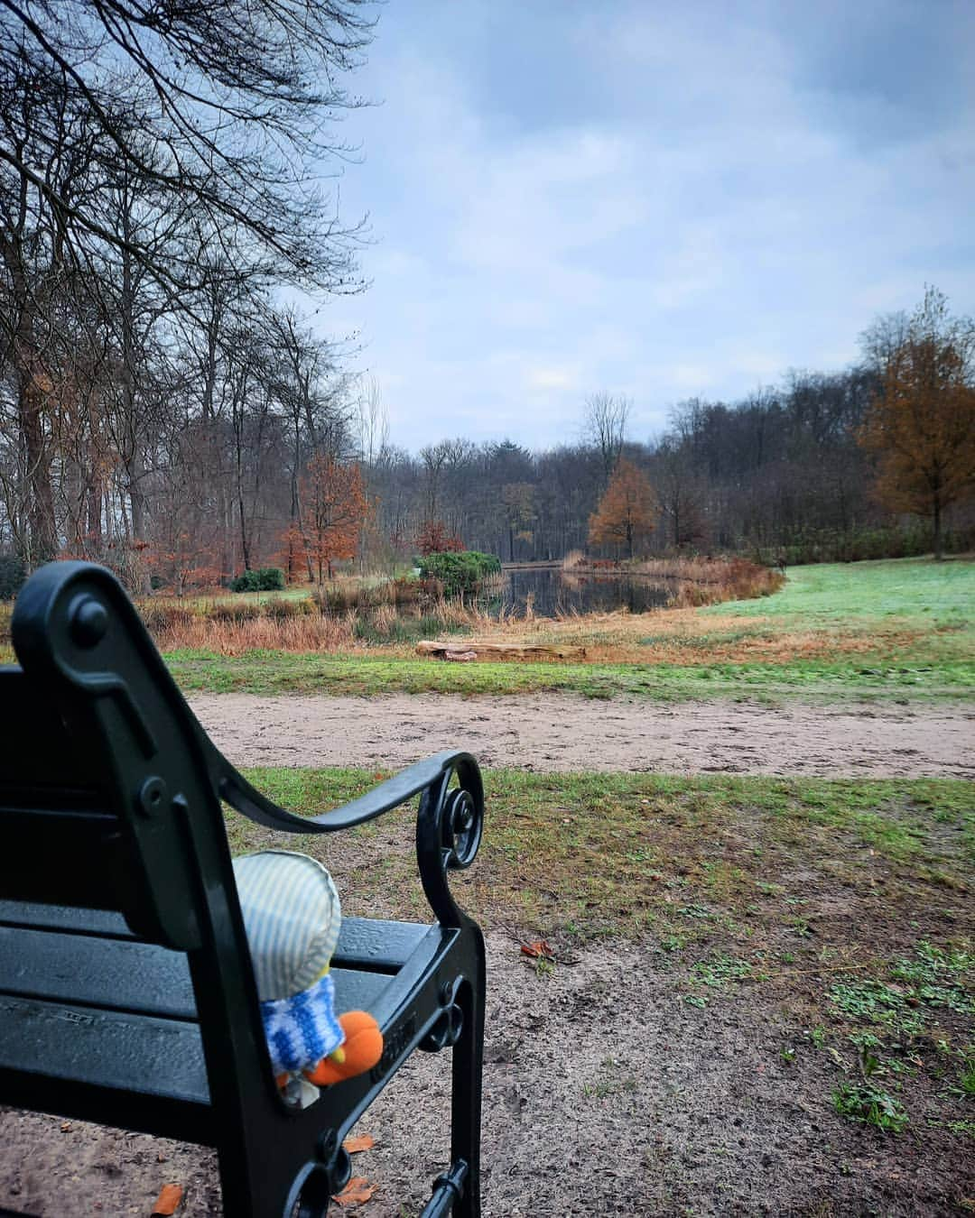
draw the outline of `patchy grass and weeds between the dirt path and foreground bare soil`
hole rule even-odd
[[[301,812],[381,775],[257,770]],[[573,951],[642,944],[679,1001],[774,1010],[782,1062],[820,1101],[890,1133],[914,1116],[975,1135],[975,790],[952,781],[540,776],[489,771],[488,832],[455,881],[485,928]],[[413,811],[302,843],[346,912],[428,918]],[[284,843],[230,816],[234,849]],[[294,844],[294,839],[289,839]],[[812,1066],[810,1066],[812,1068]]]

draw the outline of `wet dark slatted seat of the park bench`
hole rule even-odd
[[[370,1011],[389,1034],[401,974],[425,971],[450,937],[345,918],[332,967],[338,1012]],[[212,1145],[186,955],[140,939],[119,914],[0,901],[0,1027],[7,1102],[84,1119],[105,1108],[112,1124]]]

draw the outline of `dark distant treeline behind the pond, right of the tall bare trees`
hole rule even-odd
[[[590,426],[585,441],[534,453],[509,441],[444,441],[416,457],[388,448],[369,470],[378,532],[408,543],[419,521],[435,518],[506,561],[558,559],[590,548],[590,516],[622,453],[657,498],[651,551],[786,563],[921,553],[931,548],[930,523],[875,501],[873,462],[857,442],[878,390],[865,368],[796,373],[739,402],[682,402],[645,443],[619,435],[614,443]],[[956,509],[947,547],[970,546],[974,523],[970,509]]]

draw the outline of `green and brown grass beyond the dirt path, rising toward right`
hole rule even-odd
[[[254,693],[526,693],[814,700],[962,699],[975,682],[975,564],[924,559],[797,568],[765,599],[545,626],[586,664],[441,664],[402,655],[176,652],[186,689]],[[673,628],[680,615],[681,628]],[[690,621],[689,626],[685,626]],[[508,637],[511,637],[508,635]],[[601,663],[619,653],[623,663]],[[681,663],[682,659],[696,663]]]

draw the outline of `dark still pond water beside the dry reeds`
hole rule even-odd
[[[674,588],[665,582],[635,579],[618,571],[579,574],[558,568],[531,568],[505,571],[505,587],[486,608],[491,614],[503,611],[516,618],[524,618],[529,603],[539,618],[624,608],[630,613],[646,613],[670,604],[673,594]]]

